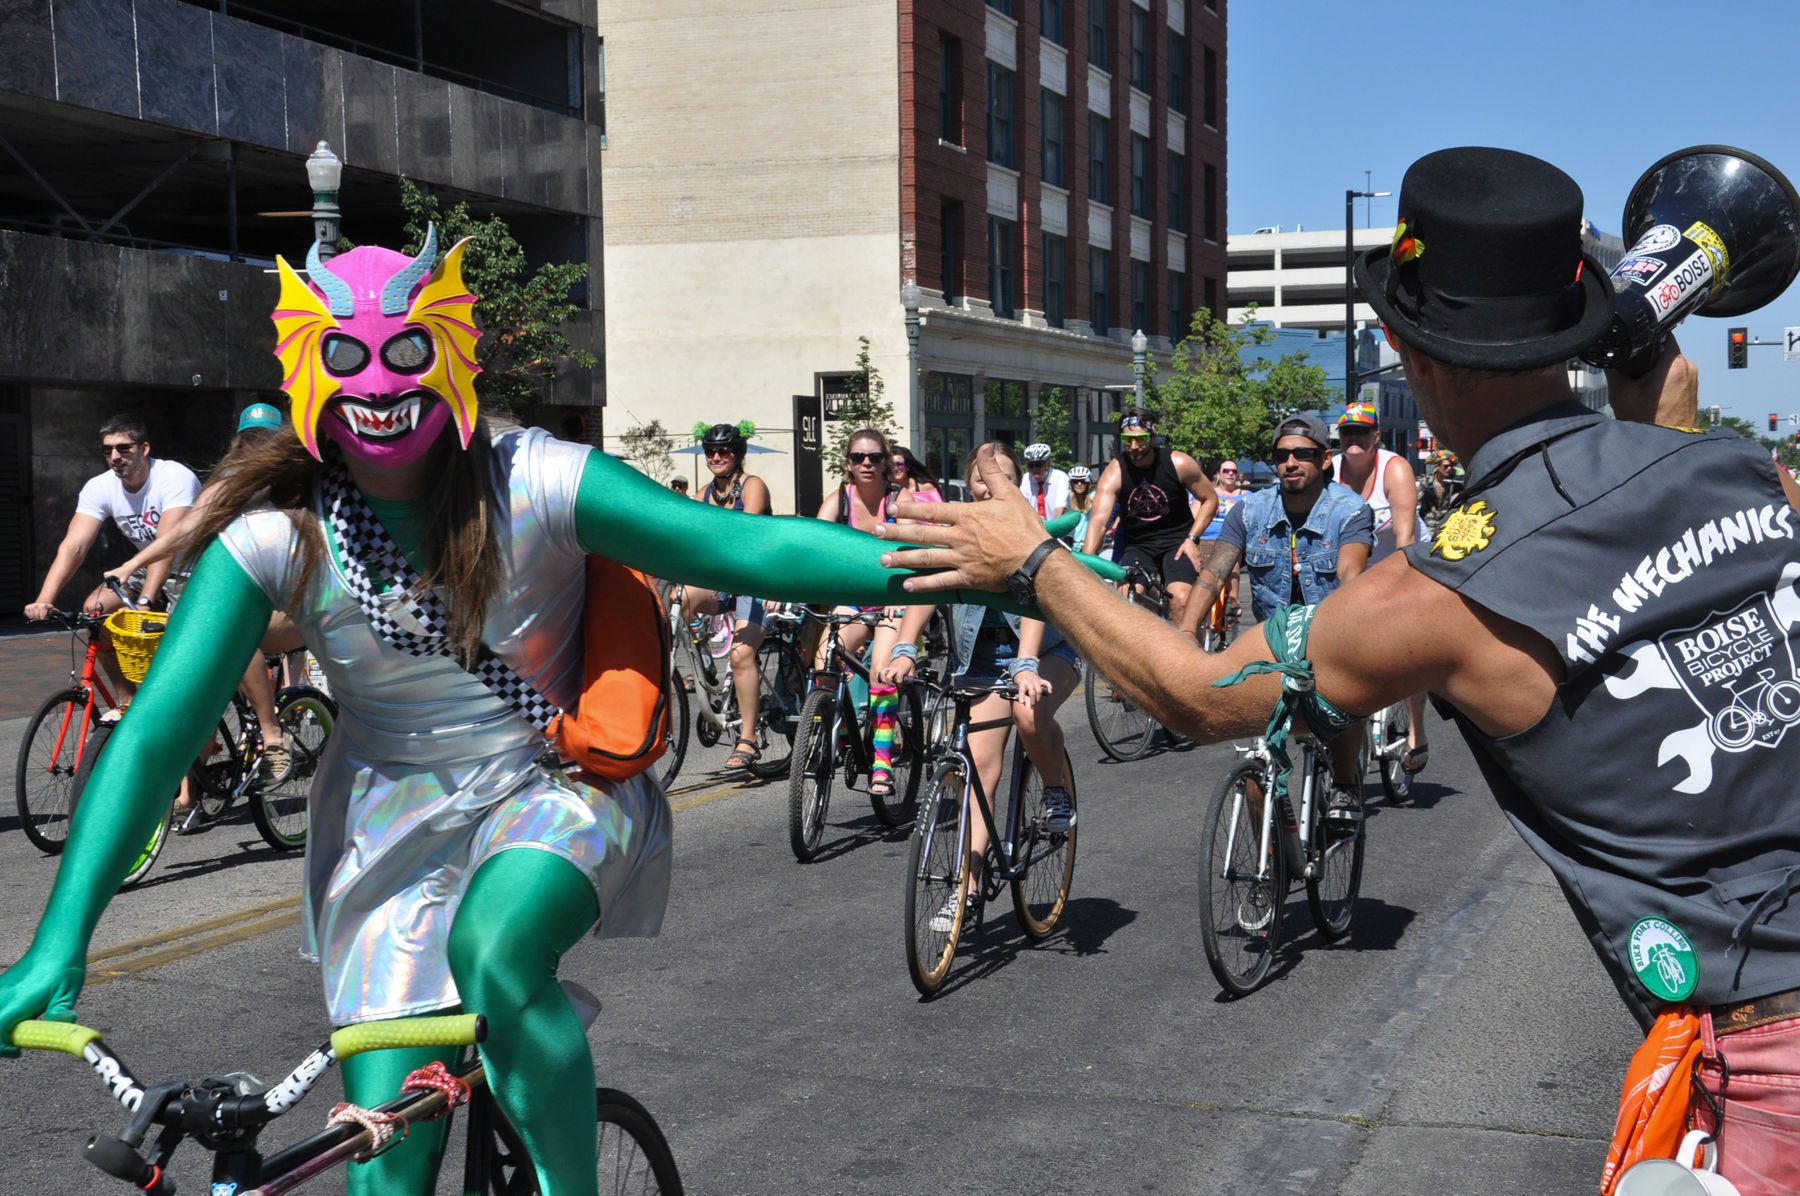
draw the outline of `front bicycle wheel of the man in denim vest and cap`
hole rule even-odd
[[[1287,856],[1280,818],[1271,827],[1269,866],[1258,875],[1265,782],[1262,764],[1246,760],[1226,773],[1206,811],[1201,942],[1219,987],[1233,996],[1249,996],[1262,985],[1282,944]]]

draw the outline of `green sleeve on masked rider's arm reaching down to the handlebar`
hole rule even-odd
[[[32,951],[85,958],[119,877],[205,746],[272,609],[223,544],[194,566],[149,675],[81,794]]]

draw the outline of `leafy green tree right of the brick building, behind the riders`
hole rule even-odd
[[[1175,448],[1204,461],[1260,458],[1282,416],[1343,402],[1343,391],[1325,385],[1325,369],[1309,366],[1305,351],[1280,360],[1246,353],[1274,340],[1267,326],[1251,326],[1255,319],[1255,304],[1242,324],[1226,324],[1201,308],[1175,346],[1168,375],[1147,387],[1161,416],[1157,430]]]

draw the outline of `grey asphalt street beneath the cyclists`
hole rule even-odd
[[[799,865],[787,784],[745,787],[715,771],[725,748],[695,746],[662,935],[563,962],[603,998],[601,1083],[655,1113],[691,1192],[1595,1191],[1640,1034],[1447,724],[1413,803],[1372,805],[1352,937],[1325,946],[1296,892],[1244,1000],[1220,998],[1197,911],[1229,746],[1109,764],[1078,699],[1062,724],[1064,928],[1031,946],[1003,902],[932,1001],[905,973],[904,832],[839,791],[824,856]],[[0,760],[22,731],[0,722]],[[16,825],[0,818],[0,962],[54,874]],[[238,812],[175,839],[103,920],[81,1021],[144,1079],[286,1074],[328,1030],[299,881]],[[338,1092],[328,1075],[265,1142],[311,1133]],[[0,1061],[0,1192],[121,1191],[79,1151],[124,1120],[74,1059]],[[193,1146],[171,1173],[207,1191]]]

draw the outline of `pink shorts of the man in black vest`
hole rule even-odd
[[[1719,1174],[1742,1196],[1800,1192],[1800,1018],[1715,1037],[1708,1014],[1701,1019],[1701,1034],[1706,1092],[1717,1093],[1724,1075]],[[1694,1126],[1715,1131],[1706,1099],[1696,1097]]]

